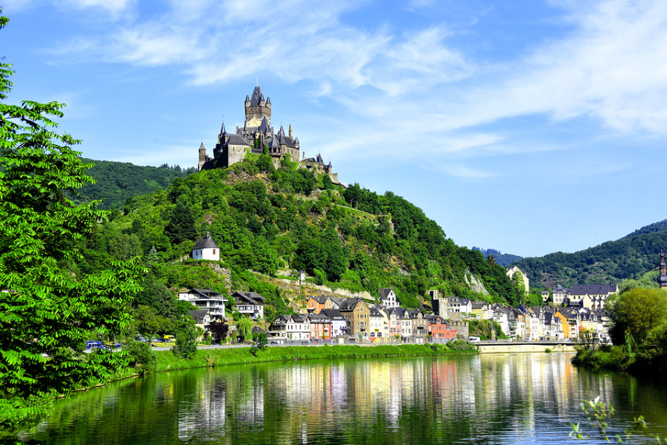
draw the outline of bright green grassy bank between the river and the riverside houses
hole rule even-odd
[[[159,351],[156,371],[224,366],[257,362],[281,362],[304,359],[327,359],[345,357],[401,357],[410,355],[454,355],[477,354],[470,350],[454,350],[445,345],[381,345],[381,346],[280,346],[257,350],[252,355],[250,348],[200,349],[195,357],[183,359],[171,351]]]

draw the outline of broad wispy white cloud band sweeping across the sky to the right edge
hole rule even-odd
[[[131,6],[131,0],[67,1],[116,13]],[[597,123],[598,134],[667,129],[663,1],[559,1],[554,4],[565,13],[560,25],[566,32],[491,65],[457,47],[458,31],[446,22],[403,29],[346,20],[366,3],[174,0],[154,16],[109,27],[108,35],[76,41],[67,51],[97,51],[103,60],[133,65],[174,65],[195,86],[262,72],[288,83],[307,81],[315,85],[311,99],[328,99],[356,117],[329,138],[313,138],[318,149],[352,156],[382,152],[416,163],[424,154],[461,161],[463,154],[534,152],[520,135],[484,126],[536,115],[554,122],[586,116]],[[423,14],[441,6],[415,0],[411,7]],[[376,145],[368,147],[368,140]],[[414,148],[406,155],[397,140]],[[537,150],[557,148],[543,144]],[[440,170],[488,177],[463,166]]]

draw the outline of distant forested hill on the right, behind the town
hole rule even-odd
[[[638,279],[657,268],[660,250],[667,250],[667,220],[642,227],[616,241],[575,253],[556,252],[516,261],[528,275],[531,287],[556,284],[604,284]]]

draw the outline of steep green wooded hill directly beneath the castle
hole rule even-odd
[[[197,172],[176,178],[165,190],[130,197],[122,213],[99,226],[80,267],[104,270],[113,259],[144,255],[151,268],[139,300],[156,308],[162,303],[155,295],[167,288],[227,293],[211,268],[177,261],[210,232],[224,268],[232,271],[232,286],[263,293],[269,314],[288,302],[277,287],[247,270],[272,276],[281,268],[303,269],[318,284],[373,295],[393,287],[406,307],[419,307],[429,289],[445,296],[518,299],[502,266],[455,245],[402,197],[377,195],[358,184],[345,189],[328,175],[284,159],[276,169],[267,154],[247,157],[229,169]],[[488,295],[470,290],[470,274]]]

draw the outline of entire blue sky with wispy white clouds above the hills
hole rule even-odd
[[[92,159],[196,165],[258,79],[306,156],[459,245],[574,252],[666,218],[664,1],[0,3],[10,101],[67,103]]]

